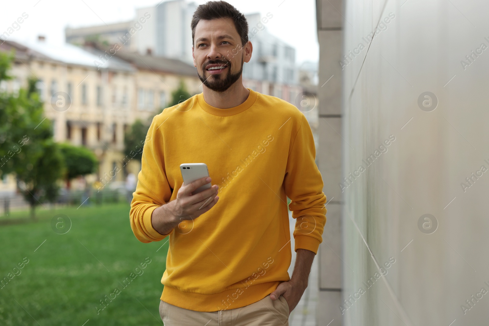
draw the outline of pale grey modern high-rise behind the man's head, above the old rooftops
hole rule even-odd
[[[66,41],[84,44],[96,41],[106,46],[118,44],[126,52],[164,56],[193,65],[190,23],[197,4],[187,0],[160,2],[156,6],[136,9],[133,21],[109,25],[69,28]],[[243,67],[244,86],[289,103],[299,102],[302,93],[295,48],[268,33],[266,26],[273,14],[245,15],[253,55]]]

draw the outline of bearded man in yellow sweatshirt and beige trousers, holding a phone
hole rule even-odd
[[[289,325],[326,222],[311,128],[293,105],[243,86],[253,46],[236,8],[209,1],[191,27],[203,92],[154,117],[131,228],[145,243],[169,237],[165,326]],[[182,163],[206,163],[210,177],[184,185]],[[297,219],[291,278],[287,197]]]

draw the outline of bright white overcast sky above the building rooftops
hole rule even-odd
[[[166,1],[166,0],[163,0]],[[0,34],[26,13],[8,40],[34,41],[39,34],[48,43],[64,43],[67,25],[81,27],[133,19],[135,8],[156,5],[158,0],[24,0],[0,4]],[[205,0],[194,0],[197,4]],[[268,31],[294,46],[296,63],[318,61],[315,0],[228,0],[244,14],[273,14]],[[103,22],[102,22],[103,20]],[[190,27],[189,27],[190,28]]]

